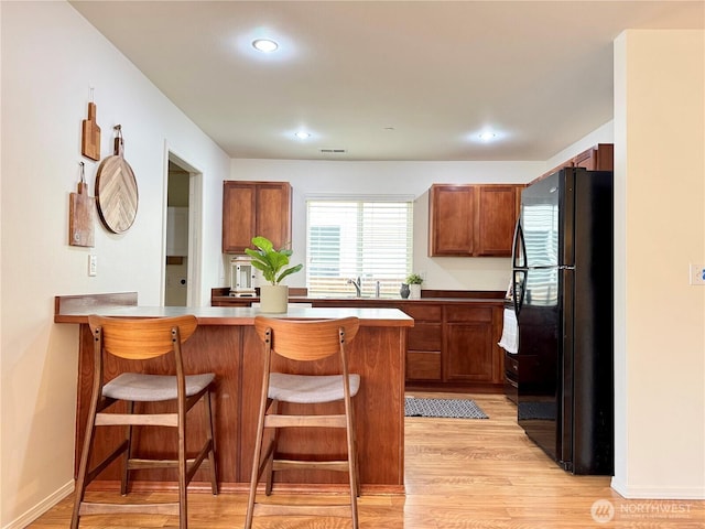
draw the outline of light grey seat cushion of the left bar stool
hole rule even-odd
[[[215,374],[187,375],[186,397],[192,397],[206,388],[215,379]],[[110,399],[137,402],[159,402],[177,398],[176,377],[171,375],[144,375],[123,373],[102,387],[102,395]]]

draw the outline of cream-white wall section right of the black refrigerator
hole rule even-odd
[[[705,499],[705,32],[615,43],[612,487]]]

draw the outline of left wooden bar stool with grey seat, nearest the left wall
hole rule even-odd
[[[198,325],[193,315],[155,319],[121,319],[91,315],[88,324],[94,335],[94,382],[84,447],[76,481],[76,500],[70,527],[78,527],[83,515],[95,514],[167,514],[178,515],[178,527],[186,529],[186,487],[196,471],[203,466],[210,472],[213,494],[218,494],[214,446],[210,395],[215,375],[185,375],[182,344],[191,337]],[[149,360],[174,352],[175,375],[145,375],[121,373],[110,381],[104,380],[107,355],[129,360]],[[186,414],[198,401],[204,402],[206,441],[194,458],[187,458]],[[126,401],[127,412],[107,410],[112,404]],[[174,401],[175,411],[163,413],[135,412],[134,402]],[[141,408],[141,407],[137,407]],[[126,427],[124,441],[101,462],[90,466],[96,427]],[[167,427],[175,430],[178,439],[178,455],[175,460],[147,460],[135,457],[132,447],[133,427]],[[145,468],[176,468],[178,472],[178,501],[152,504],[111,504],[85,501],[88,484],[110,463],[122,455],[120,492],[128,493],[130,471]]]

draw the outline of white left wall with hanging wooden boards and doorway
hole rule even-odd
[[[68,3],[0,2],[1,242],[0,527],[24,527],[73,487],[78,333],[53,323],[53,296],[137,291],[160,304],[166,148],[204,180],[202,299],[218,282],[221,184],[228,156]],[[122,126],[139,210],[124,235],[95,226],[95,247],[68,246],[68,194],[86,162],[82,120],[95,87],[101,154]],[[98,274],[87,276],[88,255]]]

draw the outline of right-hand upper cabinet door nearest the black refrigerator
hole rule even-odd
[[[517,224],[516,185],[479,185],[476,256],[509,257]]]

